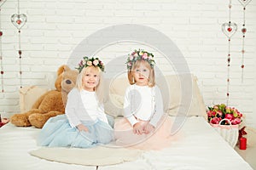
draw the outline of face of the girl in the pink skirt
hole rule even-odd
[[[138,86],[148,86],[148,77],[150,75],[150,70],[146,65],[138,65],[134,68],[134,79],[136,81],[136,85]]]

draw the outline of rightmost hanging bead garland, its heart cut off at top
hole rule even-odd
[[[241,82],[243,82],[243,69],[244,69],[244,54],[245,54],[245,49],[244,49],[244,42],[245,42],[245,34],[247,32],[247,28],[245,27],[245,10],[246,6],[248,3],[251,2],[251,0],[238,0],[241,5],[243,6],[243,23],[242,23],[242,28],[241,28],[241,33],[242,33],[242,43],[241,43]]]

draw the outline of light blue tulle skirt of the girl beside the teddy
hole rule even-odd
[[[49,118],[38,136],[38,145],[49,147],[89,148],[98,144],[108,144],[113,140],[113,128],[106,122],[82,122],[89,132],[71,127],[66,115]]]

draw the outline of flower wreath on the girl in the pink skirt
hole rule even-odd
[[[127,69],[131,71],[132,65],[137,61],[143,59],[145,61],[148,61],[148,64],[151,66],[151,68],[154,67],[154,54],[148,53],[147,51],[143,49],[135,49],[134,52],[129,54],[127,61],[125,64],[127,64]]]

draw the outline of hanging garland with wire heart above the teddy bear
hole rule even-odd
[[[21,48],[20,48],[20,29],[26,24],[26,14],[20,14],[20,0],[18,0],[18,14],[13,14],[11,16],[11,22],[13,23],[13,25],[18,29],[18,32],[19,32],[19,51],[18,51],[18,54],[19,54],[19,60],[20,60],[20,88],[22,88],[22,71],[21,71],[21,54],[22,54],[22,51],[21,51]]]

